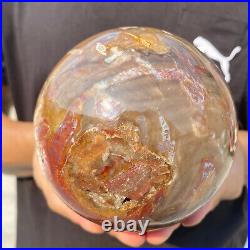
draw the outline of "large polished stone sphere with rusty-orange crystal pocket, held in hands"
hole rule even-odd
[[[55,192],[101,223],[176,223],[232,165],[235,109],[220,71],[184,39],[124,27],[84,40],[40,93],[35,137]]]

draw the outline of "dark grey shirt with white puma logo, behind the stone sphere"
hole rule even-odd
[[[247,3],[4,3],[4,81],[19,120],[32,121],[49,72],[74,45],[103,30],[150,26],[192,42],[201,35],[230,62],[231,90],[241,129],[247,129]],[[193,228],[180,228],[162,247],[242,247],[247,237],[247,194],[222,202]],[[18,179],[18,247],[121,247],[51,212],[32,178]]]

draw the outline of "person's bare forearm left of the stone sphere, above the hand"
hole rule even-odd
[[[9,174],[32,174],[34,133],[31,122],[12,121],[2,115],[2,165]]]

